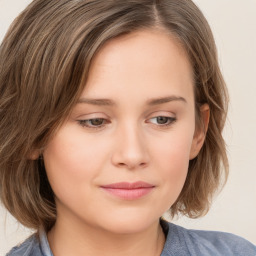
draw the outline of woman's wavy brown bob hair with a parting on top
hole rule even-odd
[[[211,111],[205,143],[190,161],[170,213],[196,218],[208,211],[228,175],[222,137],[228,96],[211,29],[198,7],[191,0],[34,0],[0,46],[0,196],[23,225],[48,231],[56,220],[43,160],[31,159],[31,152],[42,152],[66,120],[102,45],[145,29],[168,33],[186,51],[197,127],[200,106],[207,103]]]

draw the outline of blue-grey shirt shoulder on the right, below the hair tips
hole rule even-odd
[[[172,223],[168,225],[166,243],[172,244],[173,237],[178,237],[179,246],[189,255],[256,256],[256,246],[239,236],[217,231],[190,230]]]

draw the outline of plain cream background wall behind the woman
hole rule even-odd
[[[0,41],[12,20],[30,2],[0,0]],[[195,3],[212,27],[229,88],[229,121],[224,134],[230,176],[205,217],[175,222],[187,228],[235,233],[256,244],[256,1],[195,0]],[[0,206],[1,256],[31,232]]]

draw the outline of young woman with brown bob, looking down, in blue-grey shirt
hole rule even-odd
[[[228,173],[226,87],[193,2],[35,0],[0,59],[1,199],[37,230],[8,255],[256,255],[161,218],[205,214]]]

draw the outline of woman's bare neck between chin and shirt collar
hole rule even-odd
[[[159,256],[165,236],[159,221],[136,233],[113,233],[91,225],[57,221],[48,233],[54,256]]]

